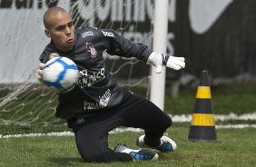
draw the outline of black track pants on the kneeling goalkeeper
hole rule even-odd
[[[130,155],[113,152],[108,147],[108,133],[117,126],[142,128],[145,142],[158,146],[172,119],[150,101],[126,92],[123,103],[109,111],[76,120],[73,126],[75,142],[85,162],[132,161]],[[135,142],[135,139],[131,139]]]

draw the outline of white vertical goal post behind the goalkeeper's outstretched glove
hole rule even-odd
[[[162,54],[166,53],[167,34],[168,34],[168,0],[154,2],[153,18],[153,51]],[[151,70],[151,95],[150,100],[160,109],[164,110],[164,92],[165,92],[165,67],[161,74]]]

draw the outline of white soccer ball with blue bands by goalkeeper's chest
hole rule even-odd
[[[79,70],[67,57],[54,57],[44,65],[43,83],[56,93],[67,93],[74,88]]]

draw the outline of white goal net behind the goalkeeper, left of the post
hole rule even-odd
[[[54,117],[57,95],[35,79],[38,57],[49,43],[43,15],[55,5],[70,12],[76,28],[111,28],[133,42],[152,46],[152,0],[0,1],[0,124],[64,123]],[[168,49],[172,50],[171,44]],[[149,90],[150,66],[136,59],[104,57],[108,71],[122,86]],[[148,91],[143,95],[147,98]]]

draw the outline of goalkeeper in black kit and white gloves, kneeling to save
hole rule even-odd
[[[44,64],[53,56],[65,56],[77,64],[80,76],[74,89],[59,93],[56,117],[65,119],[74,131],[78,152],[85,162],[128,162],[157,160],[161,152],[172,152],[176,143],[163,135],[172,119],[150,101],[126,91],[105,70],[103,51],[123,57],[136,57],[153,64],[156,73],[165,65],[174,70],[185,67],[183,57],[153,52],[146,45],[134,44],[111,29],[85,27],[74,30],[71,16],[60,7],[44,13],[44,34],[51,39],[39,59],[36,73],[42,81]],[[137,138],[140,147],[133,150],[117,144],[108,146],[108,134],[117,126],[142,128]]]

